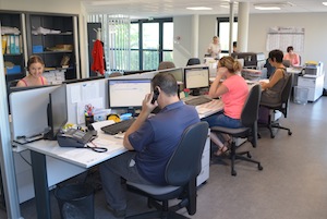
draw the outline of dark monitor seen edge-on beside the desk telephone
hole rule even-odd
[[[45,134],[46,139],[57,139],[57,134],[68,122],[66,109],[66,85],[62,84],[49,94],[47,108],[49,132]]]

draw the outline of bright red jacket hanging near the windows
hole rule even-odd
[[[100,74],[105,74],[104,46],[102,42],[98,39],[94,42],[92,57],[93,64],[90,66],[90,70]]]

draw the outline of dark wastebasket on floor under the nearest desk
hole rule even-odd
[[[94,219],[94,187],[71,184],[55,191],[62,219]]]

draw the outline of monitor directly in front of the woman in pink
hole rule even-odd
[[[209,87],[209,68],[184,68],[184,88],[189,88],[192,95],[199,95],[201,88]]]

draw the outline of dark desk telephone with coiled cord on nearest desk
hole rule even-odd
[[[58,134],[57,141],[61,147],[85,147],[93,136],[93,132],[69,129],[65,133]]]

